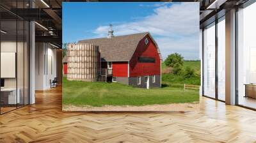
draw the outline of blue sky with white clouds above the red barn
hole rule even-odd
[[[198,3],[63,3],[63,43],[150,32],[164,58],[199,59]]]

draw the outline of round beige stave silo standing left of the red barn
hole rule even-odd
[[[67,79],[97,81],[99,46],[90,43],[70,43],[67,49]]]

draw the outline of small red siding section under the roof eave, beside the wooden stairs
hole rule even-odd
[[[128,77],[128,62],[113,62],[113,77]]]

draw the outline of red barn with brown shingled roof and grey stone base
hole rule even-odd
[[[113,31],[109,32],[108,38],[78,41],[99,45],[100,68],[106,70],[108,80],[135,87],[161,87],[161,54],[150,33],[113,36]]]

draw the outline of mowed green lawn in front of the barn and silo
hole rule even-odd
[[[180,87],[141,89],[118,83],[68,81],[63,78],[63,105],[154,105],[198,102],[198,91]]]

